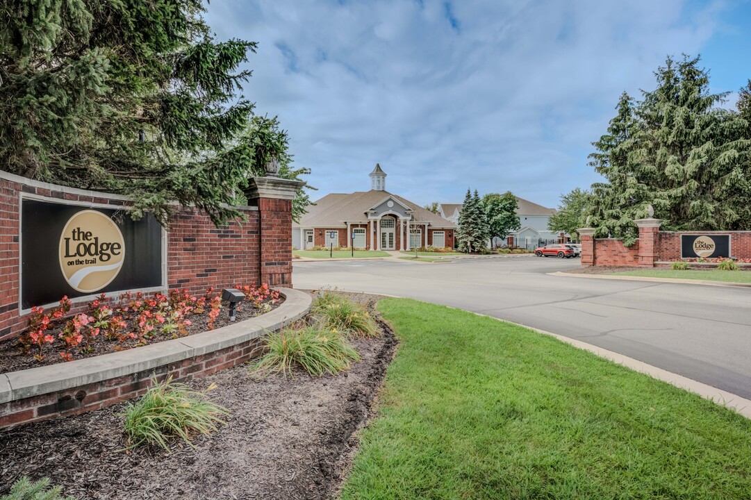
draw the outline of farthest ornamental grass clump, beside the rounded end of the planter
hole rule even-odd
[[[313,301],[311,310],[329,330],[358,339],[377,336],[375,320],[369,312],[341,295],[327,291]]]

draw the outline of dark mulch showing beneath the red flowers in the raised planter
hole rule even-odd
[[[283,302],[284,298],[280,298],[276,303],[272,303],[270,300],[267,300],[267,303],[269,303],[271,307],[270,310],[276,309],[277,307],[281,306]],[[261,314],[263,314],[262,310],[255,308],[252,303],[242,304],[240,306],[240,309],[237,309],[236,321],[255,318],[256,316]],[[132,330],[132,323],[134,321],[132,315],[131,317],[126,316],[123,319],[125,319],[125,321],[128,323],[128,328],[126,328],[125,330]],[[209,328],[209,315],[207,313],[204,313],[202,315],[191,315],[188,319],[191,321],[191,324],[186,327],[187,336],[195,335],[196,333],[204,333]],[[221,312],[219,312],[219,317],[216,318],[216,321],[214,322],[214,329],[225,327],[228,324],[231,324],[231,321],[229,319],[229,303],[222,303],[222,310]],[[60,333],[63,327],[65,327],[65,321],[57,324],[56,327],[50,328],[50,330],[47,330],[47,333],[50,333],[50,335],[57,338],[58,333]],[[164,340],[171,340],[173,338],[174,337],[171,334],[165,335],[157,333],[155,336],[149,339],[149,344],[155,344],[156,342],[163,342]],[[109,340],[104,335],[100,334],[95,337],[95,342],[89,344],[89,350],[71,350],[71,354],[73,354],[75,360],[81,360],[86,357],[98,356],[100,354],[108,354],[110,352],[124,351],[125,349],[136,348],[136,343],[136,340],[128,339],[126,342],[121,344],[117,340]],[[8,339],[0,342],[0,373],[16,372],[18,370],[35,368],[37,366],[47,366],[57,363],[63,363],[64,360],[58,354],[58,351],[60,351],[60,349],[55,348],[55,346],[58,346],[58,342],[56,342],[56,344],[54,345],[48,345],[45,348],[45,357],[43,360],[36,360],[34,354],[36,354],[37,351],[33,346],[31,352],[25,353],[21,350],[17,339]]]

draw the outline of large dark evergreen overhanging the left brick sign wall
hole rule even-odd
[[[128,194],[135,217],[164,221],[173,201],[217,224],[237,216],[226,203],[264,175],[253,104],[237,95],[256,44],[216,41],[203,11],[201,0],[5,2],[0,168]]]

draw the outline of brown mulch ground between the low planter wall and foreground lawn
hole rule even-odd
[[[379,297],[350,295],[371,308]],[[120,451],[125,404],[0,431],[0,495],[18,477],[50,477],[83,498],[330,498],[347,470],[354,432],[369,416],[397,342],[379,321],[379,339],[353,344],[349,372],[256,380],[237,366],[192,381],[229,408],[219,432],[164,450]]]

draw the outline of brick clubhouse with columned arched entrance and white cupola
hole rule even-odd
[[[369,177],[369,191],[327,194],[309,206],[308,213],[292,224],[293,248],[454,247],[454,222],[386,191],[386,173],[381,165],[375,164]]]

